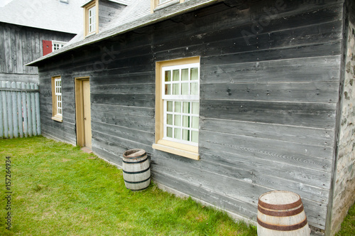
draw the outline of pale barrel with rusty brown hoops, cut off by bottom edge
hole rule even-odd
[[[258,200],[258,236],[310,235],[300,195],[289,191],[263,193]]]

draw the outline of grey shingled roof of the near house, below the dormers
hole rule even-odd
[[[67,43],[60,50],[55,50],[53,53],[43,56],[38,60],[34,60],[27,65],[36,65],[38,62],[52,58],[55,55],[65,53],[67,51],[80,48],[84,45],[97,43],[107,38],[119,35],[131,31],[136,28],[148,26],[152,23],[163,21],[166,18],[183,14],[187,11],[193,11],[199,9],[202,6],[209,4],[215,4],[223,0],[185,0],[182,4],[174,4],[164,9],[160,9],[151,14],[151,0],[131,0],[129,5],[120,13],[120,16],[116,20],[111,21],[109,25],[103,28],[97,34],[84,38],[84,33],[79,33],[77,36]]]

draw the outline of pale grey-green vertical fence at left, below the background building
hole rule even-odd
[[[38,84],[0,81],[0,139],[40,135]]]

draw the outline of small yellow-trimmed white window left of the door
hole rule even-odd
[[[62,78],[52,77],[52,119],[62,122]]]

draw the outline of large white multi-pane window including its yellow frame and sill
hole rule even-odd
[[[153,148],[199,159],[200,58],[156,64]]]

